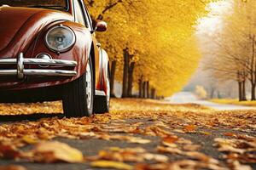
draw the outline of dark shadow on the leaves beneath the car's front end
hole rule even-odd
[[[63,118],[63,114],[32,114],[32,115],[1,115],[0,122],[20,122],[20,121],[38,121],[43,118],[59,117]]]

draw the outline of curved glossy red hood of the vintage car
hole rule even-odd
[[[13,58],[25,52],[38,32],[57,20],[73,20],[73,17],[43,8],[0,7],[0,58]]]

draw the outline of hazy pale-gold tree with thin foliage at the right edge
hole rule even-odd
[[[246,100],[247,79],[252,86],[251,99],[256,99],[255,7],[255,1],[235,0],[232,13],[223,18],[224,29],[211,38],[218,48],[209,68],[218,79],[236,80],[240,100]]]

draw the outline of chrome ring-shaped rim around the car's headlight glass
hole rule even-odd
[[[53,31],[54,29],[56,28],[64,28],[64,29],[67,29],[68,31],[70,31],[72,33],[72,36],[73,36],[73,41],[71,42],[71,44],[67,47],[67,48],[63,48],[63,49],[56,49],[56,48],[52,48],[51,45],[49,45],[49,42],[47,41],[47,37],[49,36],[49,33],[51,31]],[[68,27],[68,26],[63,26],[63,25],[59,25],[59,26],[52,26],[51,28],[49,28],[49,30],[46,32],[45,36],[44,36],[44,42],[46,44],[46,47],[49,48],[49,50],[53,51],[53,52],[56,52],[56,53],[64,53],[64,52],[67,52],[68,50],[70,50],[71,48],[73,48],[75,42],[76,42],[76,35],[74,33],[74,31]]]

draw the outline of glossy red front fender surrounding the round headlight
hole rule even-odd
[[[58,54],[47,48],[45,44],[45,35],[52,26],[57,26],[60,24],[63,26],[68,26],[74,31],[76,35],[76,42],[73,45],[73,48],[71,48],[67,52]],[[81,77],[85,72],[86,64],[90,56],[91,44],[92,37],[90,31],[78,23],[72,21],[58,21],[50,24],[49,26],[46,26],[44,28],[44,31],[38,34],[38,38],[36,39],[36,41],[26,51],[25,57],[35,58],[38,54],[47,53],[53,59],[67,59],[77,61],[78,65],[75,67],[75,71],[77,71],[78,74],[77,76],[71,78],[55,77],[50,79],[50,77],[33,77],[29,80],[28,83],[26,83],[26,88],[41,88],[42,86],[55,86],[67,82],[72,82],[73,80]]]

